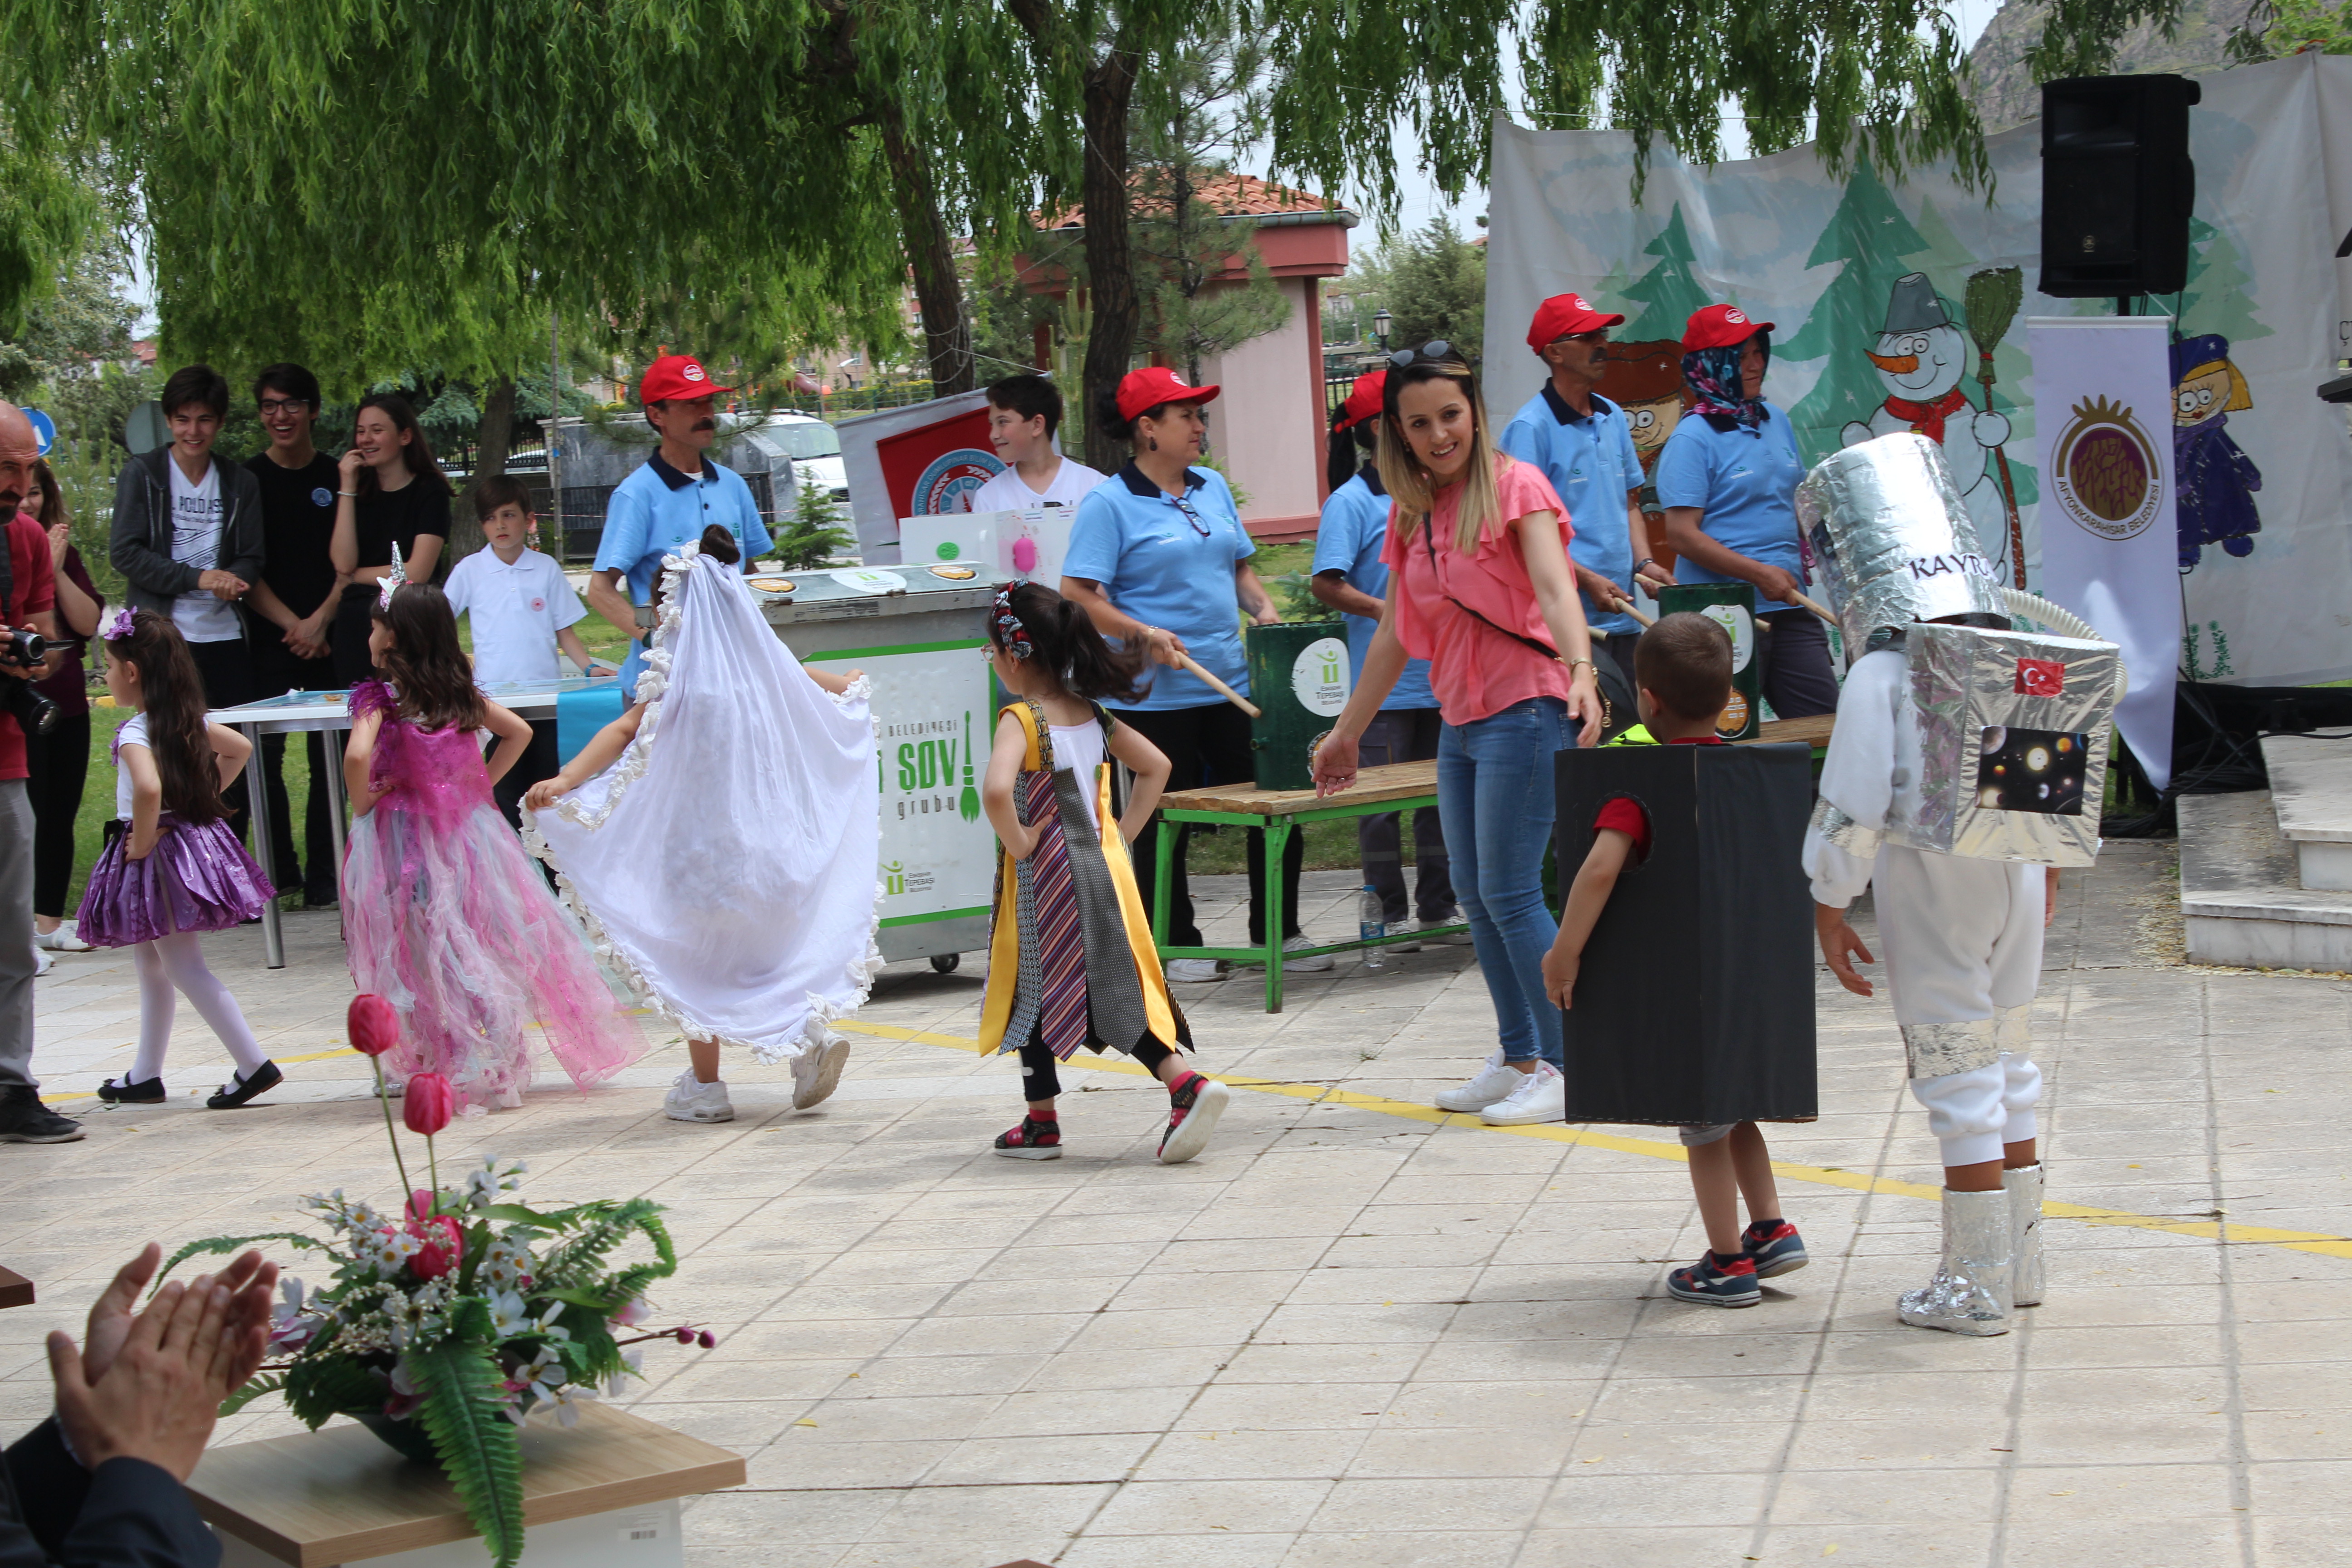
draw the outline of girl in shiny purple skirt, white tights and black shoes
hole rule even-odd
[[[254,743],[205,722],[205,682],[169,616],[118,609],[99,642],[106,689],[132,717],[115,731],[115,820],[106,823],[75,931],[94,947],[129,947],[139,969],[139,1056],[129,1077],[99,1086],[99,1098],[162,1103],[172,1013],[188,997],[238,1063],[205,1105],[235,1110],[285,1077],[202,950],[205,931],[254,919],[275,896],[221,804]]]

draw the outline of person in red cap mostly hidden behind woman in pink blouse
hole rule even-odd
[[[1381,630],[1381,611],[1388,599],[1388,567],[1381,548],[1388,543],[1388,489],[1381,484],[1381,465],[1371,461],[1374,435],[1381,428],[1381,395],[1388,390],[1388,371],[1376,369],[1355,378],[1348,402],[1331,418],[1331,468],[1341,456],[1355,456],[1362,468],[1331,489],[1324,501],[1322,522],[1315,529],[1315,567],[1308,590],[1348,618],[1348,679],[1364,679],[1364,654],[1371,651],[1371,635]],[[1334,473],[1334,477],[1338,477]],[[1437,757],[1437,693],[1430,689],[1430,661],[1404,661],[1378,717],[1364,729],[1357,743],[1362,766],[1385,762],[1428,762]],[[1418,905],[1418,924],[1451,926],[1461,922],[1454,903],[1454,867],[1446,863],[1446,832],[1435,806],[1414,813],[1414,905],[1404,898],[1402,813],[1355,818],[1355,846],[1364,865],[1364,884],[1381,893],[1381,912],[1390,931],[1404,929],[1404,917]],[[1461,945],[1470,938],[1451,933],[1435,938]],[[1397,943],[1390,952],[1414,952],[1418,943]],[[1378,952],[1378,950],[1374,950]]]

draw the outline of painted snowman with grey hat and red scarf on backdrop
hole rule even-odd
[[[1969,336],[1926,273],[1896,277],[1886,296],[1886,327],[1867,353],[1886,402],[1867,423],[1849,423],[1839,444],[1858,447],[1896,430],[1917,430],[1940,444],[1969,517],[1976,520],[1978,541],[1997,562],[2006,562],[2009,524],[1992,456],[2009,440],[2009,416],[1973,407],[1959,390],[1969,369]],[[2006,567],[2002,574],[2006,576]]]

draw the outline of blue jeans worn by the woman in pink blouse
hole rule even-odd
[[[1505,1063],[1564,1065],[1559,1009],[1543,994],[1543,954],[1559,922],[1543,907],[1543,846],[1552,837],[1552,755],[1573,750],[1576,722],[1552,696],[1512,703],[1437,738],[1437,816],[1454,860],[1454,896],[1494,994]]]

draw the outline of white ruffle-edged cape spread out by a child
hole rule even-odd
[[[870,686],[811,682],[743,576],[684,545],[621,759],[524,842],[597,957],[677,1030],[800,1056],[873,990],[882,884]]]

